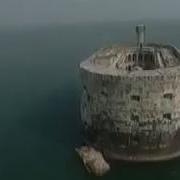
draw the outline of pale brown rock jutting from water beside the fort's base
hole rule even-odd
[[[76,151],[89,173],[93,173],[96,176],[103,176],[110,170],[110,166],[105,161],[102,153],[96,151],[94,148],[83,146],[79,149],[77,148]]]

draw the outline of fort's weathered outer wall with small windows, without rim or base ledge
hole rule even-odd
[[[167,148],[180,127],[180,76],[111,76],[80,70],[81,118],[94,143]],[[90,136],[90,135],[88,135]]]

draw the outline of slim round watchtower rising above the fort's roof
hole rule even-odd
[[[144,24],[139,24],[136,26],[137,46],[140,49],[142,49],[145,42],[145,31],[146,31],[146,27]]]

